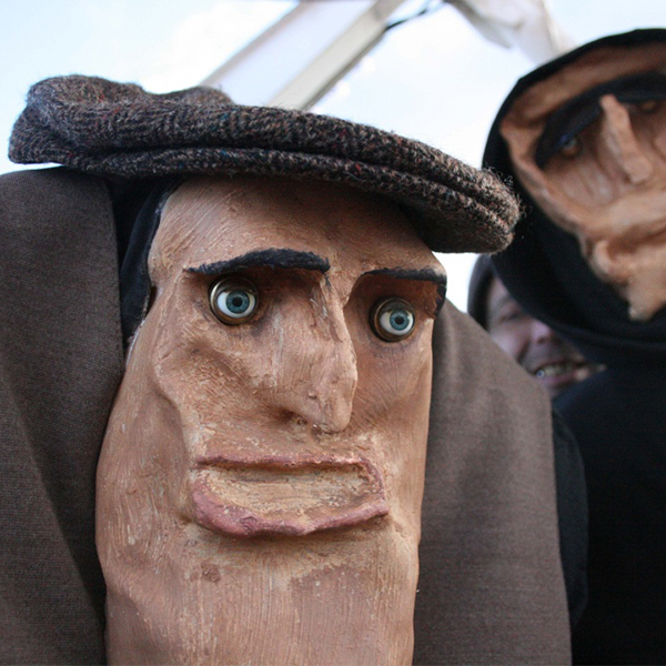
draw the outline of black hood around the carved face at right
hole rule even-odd
[[[635,30],[606,37],[523,77],[493,123],[483,158],[484,167],[515,186],[525,206],[515,241],[508,250],[493,256],[500,278],[529,314],[574,342],[588,360],[607,365],[665,360],[666,307],[648,322],[628,319],[626,302],[592,273],[575,238],[553,224],[518,183],[500,123],[526,89],[588,51],[654,41],[666,41],[666,30]]]

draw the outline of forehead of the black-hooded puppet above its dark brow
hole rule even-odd
[[[599,47],[527,88],[513,102],[502,127],[541,124],[556,109],[585,91],[644,72],[666,73],[666,42]]]

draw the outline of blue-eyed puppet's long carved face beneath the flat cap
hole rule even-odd
[[[98,471],[110,663],[411,664],[441,265],[387,201],[200,178],[149,268]]]

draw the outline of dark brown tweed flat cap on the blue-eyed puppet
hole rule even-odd
[[[493,174],[424,143],[367,125],[234,104],[219,90],[152,94],[94,77],[30,89],[9,157],[107,178],[188,173],[282,175],[345,183],[402,204],[440,252],[496,252],[518,204]]]

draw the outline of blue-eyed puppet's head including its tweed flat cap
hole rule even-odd
[[[515,201],[371,128],[82,77],[32,89],[11,150],[193,176],[149,196],[121,269],[135,335],[98,470],[110,663],[410,664],[430,250],[502,248]]]

